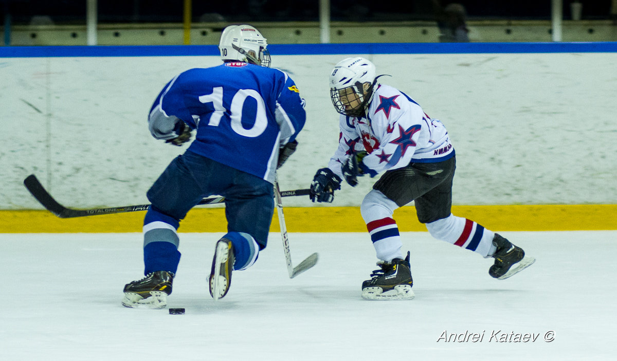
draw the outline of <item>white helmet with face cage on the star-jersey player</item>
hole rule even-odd
[[[350,117],[362,117],[373,98],[376,84],[375,64],[363,57],[348,57],[330,73],[330,98],[336,111]]]

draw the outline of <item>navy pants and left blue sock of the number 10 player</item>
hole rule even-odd
[[[144,218],[144,274],[157,270],[176,272],[180,262],[176,233],[180,220],[202,198],[213,194],[225,197],[228,234],[254,238],[259,247],[254,251],[266,247],[274,212],[272,184],[186,151],[172,160],[147,192],[152,206]]]

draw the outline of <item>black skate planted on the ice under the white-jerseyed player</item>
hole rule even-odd
[[[371,273],[371,279],[362,283],[362,298],[368,300],[412,299],[413,278],[409,266],[409,252],[405,259],[380,261],[381,269]]]

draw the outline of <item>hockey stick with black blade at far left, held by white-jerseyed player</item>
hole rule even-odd
[[[54,197],[52,197],[45,188],[43,188],[43,185],[41,185],[41,182],[36,179],[35,175],[27,176],[27,178],[23,180],[23,185],[26,186],[28,191],[30,191],[32,196],[34,196],[37,201],[43,204],[43,207],[45,207],[47,210],[49,210],[49,212],[52,212],[54,215],[60,218],[75,218],[86,217],[88,215],[138,212],[139,210],[147,210],[150,207],[149,204],[138,204],[110,208],[72,209],[58,203],[56,199],[54,199]],[[292,191],[281,192],[282,197],[305,196],[307,194],[309,194],[309,189],[294,189]],[[217,204],[222,202],[225,202],[225,197],[215,196],[204,198],[197,205]]]

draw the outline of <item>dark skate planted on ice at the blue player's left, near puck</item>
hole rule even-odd
[[[172,294],[173,273],[157,271],[124,286],[122,305],[134,309],[162,309]]]

